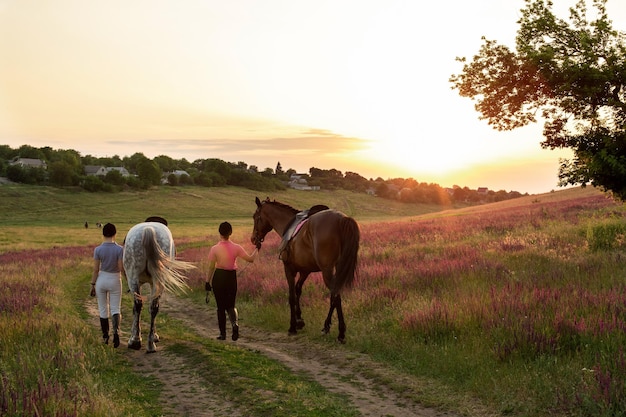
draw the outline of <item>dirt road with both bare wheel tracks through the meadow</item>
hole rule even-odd
[[[88,308],[97,316],[95,300]],[[162,298],[162,313],[182,321],[186,326],[208,338],[215,337],[217,323],[215,314],[204,306],[190,304],[176,296],[166,294]],[[125,320],[130,320],[130,317]],[[294,373],[310,376],[320,385],[329,387],[331,392],[342,394],[350,399],[360,415],[366,417],[402,416],[402,417],[453,417],[456,414],[441,412],[421,406],[413,395],[402,396],[383,385],[380,381],[400,382],[407,387],[407,392],[420,391],[420,382],[370,360],[366,355],[349,352],[341,345],[322,348],[303,337],[288,336],[287,333],[268,333],[241,326],[238,346],[257,351],[273,360],[279,361]],[[123,335],[123,342],[127,335]],[[144,335],[145,336],[145,335]],[[164,386],[162,405],[172,416],[241,416],[237,405],[223,397],[212,394],[206,382],[201,383],[193,369],[185,367],[182,358],[169,352],[165,347],[167,340],[159,343],[156,354],[146,354],[145,350],[125,349],[130,362],[137,371],[157,377]],[[121,348],[122,348],[121,347]],[[163,360],[163,356],[167,360]],[[413,398],[411,398],[413,397]]]

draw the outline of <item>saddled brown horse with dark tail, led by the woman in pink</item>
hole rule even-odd
[[[254,229],[251,241],[260,247],[265,235],[272,229],[283,236],[284,250],[280,254],[285,267],[285,276],[289,284],[289,306],[291,308],[291,324],[289,333],[297,333],[304,327],[300,310],[302,285],[312,272],[322,272],[324,283],[330,290],[330,309],[324,322],[324,333],[330,331],[333,311],[337,310],[339,336],[345,342],[346,324],[341,308],[341,292],[349,288],[357,274],[357,254],[359,251],[360,230],[356,221],[345,214],[328,209],[325,206],[314,206],[308,218],[297,228],[295,236],[291,235],[290,226],[296,221],[299,210],[277,201],[265,201],[256,198],[257,209],[254,213]],[[299,217],[299,216],[298,216]],[[298,281],[295,282],[296,275]]]

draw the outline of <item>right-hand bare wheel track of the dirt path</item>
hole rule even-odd
[[[200,336],[209,338],[217,334],[213,306],[200,306],[166,294],[161,311],[183,322]],[[405,375],[372,361],[367,355],[348,352],[337,347],[324,347],[310,343],[303,337],[287,333],[269,333],[240,323],[240,338],[233,343],[257,351],[276,360],[294,373],[308,375],[330,392],[350,399],[364,417],[454,417],[455,414],[426,408],[414,397],[420,383]],[[403,396],[380,381],[389,380],[406,387]],[[423,384],[422,384],[423,385]]]

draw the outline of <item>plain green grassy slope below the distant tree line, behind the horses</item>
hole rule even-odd
[[[222,221],[237,233],[251,233],[255,197],[266,195],[243,188],[160,187],[119,194],[36,186],[0,187],[0,253],[50,246],[93,245],[100,235],[97,222],[115,223],[119,236],[151,215],[165,217],[175,236],[215,235]],[[381,200],[364,193],[287,190],[269,196],[295,208],[326,204],[355,217],[376,221],[439,211],[439,206],[416,206]],[[88,222],[90,228],[85,230]]]

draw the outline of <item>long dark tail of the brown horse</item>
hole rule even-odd
[[[351,288],[358,275],[357,255],[361,231],[352,217],[342,217],[339,222],[341,236],[341,255],[335,268],[334,291],[339,293],[343,288]]]

